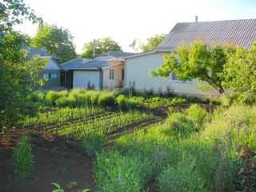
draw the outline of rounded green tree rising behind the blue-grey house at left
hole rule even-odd
[[[32,45],[38,49],[46,47],[48,53],[61,58],[61,62],[67,62],[76,58],[74,37],[69,30],[58,26],[41,25],[34,38]]]

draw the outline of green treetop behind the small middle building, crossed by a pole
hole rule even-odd
[[[112,38],[98,38],[95,40],[95,54],[102,54],[108,51],[122,51],[118,42],[115,42]],[[94,52],[94,42],[85,43],[83,46],[83,58],[92,58]]]

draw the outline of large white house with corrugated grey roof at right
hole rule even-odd
[[[125,58],[125,87],[130,82],[135,82],[137,90],[150,89],[166,90],[171,84],[176,94],[186,94],[204,98],[206,94],[219,95],[217,90],[202,91],[194,89],[198,85],[197,80],[183,82],[175,74],[170,78],[154,78],[150,76],[150,70],[164,63],[163,56],[175,52],[182,42],[190,43],[195,39],[202,38],[204,42],[214,45],[231,42],[236,46],[250,48],[256,41],[256,19],[217,21],[217,22],[184,22],[176,26],[160,45],[152,51],[130,55]]]

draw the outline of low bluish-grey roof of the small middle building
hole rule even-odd
[[[132,53],[110,51],[94,58],[76,58],[69,62],[62,63],[61,67],[63,70],[98,70],[99,68],[105,68],[124,62],[122,58],[130,54]]]

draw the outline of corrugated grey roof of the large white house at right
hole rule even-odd
[[[230,42],[250,48],[256,41],[256,19],[177,23],[156,50],[175,51],[182,42],[191,43],[197,38],[210,45]]]

